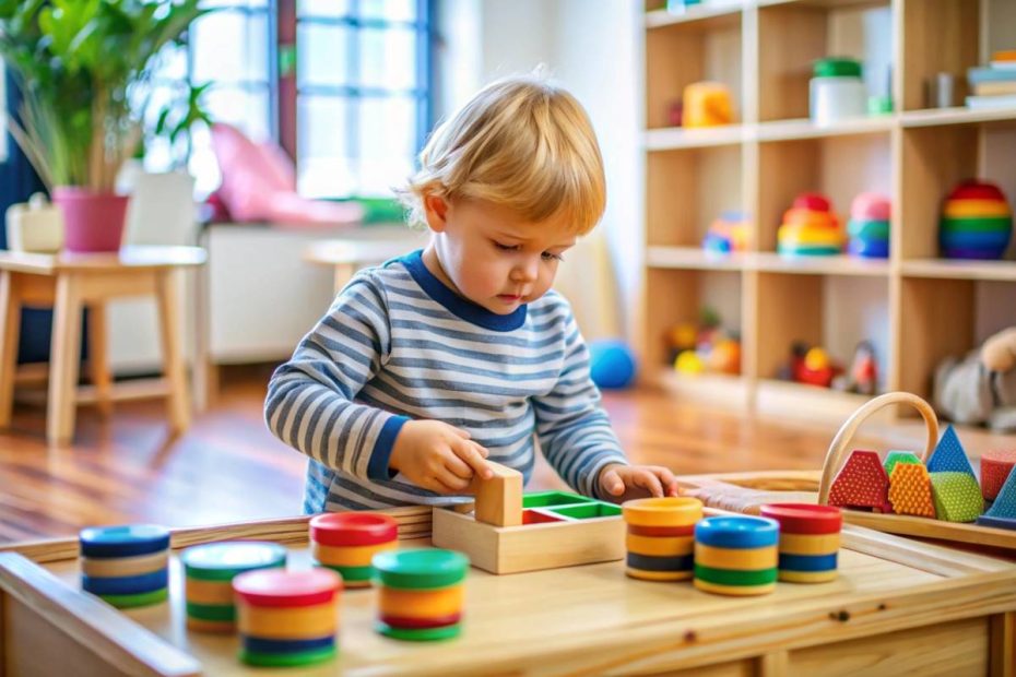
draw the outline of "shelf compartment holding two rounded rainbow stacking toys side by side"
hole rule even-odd
[[[760,143],[758,152],[760,251],[776,251],[783,213],[801,193],[825,194],[844,224],[859,193],[893,193],[888,133],[773,141]]]

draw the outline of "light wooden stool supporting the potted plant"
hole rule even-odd
[[[115,400],[164,396],[173,429],[186,429],[190,404],[175,278],[181,270],[204,261],[204,250],[198,247],[126,247],[117,253],[0,251],[0,429],[11,424],[21,309],[26,306],[54,309],[46,414],[46,437],[51,443],[73,438],[75,405],[85,402],[97,402],[108,411]],[[115,387],[106,357],[106,302],[131,296],[156,299],[165,376]],[[91,388],[78,387],[84,308],[91,311]]]

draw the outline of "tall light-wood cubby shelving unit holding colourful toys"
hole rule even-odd
[[[935,365],[1016,324],[1016,246],[1005,261],[936,258],[942,199],[960,180],[994,181],[1016,204],[1016,108],[926,109],[926,83],[956,78],[1016,46],[1012,0],[743,0],[684,14],[646,2],[646,250],[640,349],[646,377],[677,396],[780,415],[842,420],[865,397],[777,380],[794,341],[849,364],[875,343],[883,390],[931,395]],[[808,119],[812,63],[865,63],[893,112],[828,127]],[[889,74],[891,66],[891,76]],[[725,83],[736,123],[669,126],[685,85]],[[794,197],[827,194],[841,218],[853,198],[893,198],[891,258],[788,259],[777,229]],[[751,250],[700,245],[725,210],[753,216]],[[742,336],[741,377],[682,377],[666,330],[717,308]]]

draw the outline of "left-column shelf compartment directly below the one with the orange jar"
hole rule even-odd
[[[646,176],[647,245],[698,247],[722,212],[741,210],[741,147],[650,153]]]

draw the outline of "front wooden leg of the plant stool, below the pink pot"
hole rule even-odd
[[[76,277],[69,273],[58,275],[52,345],[49,349],[49,402],[46,412],[46,439],[51,444],[63,444],[74,437],[82,310],[81,289]]]

